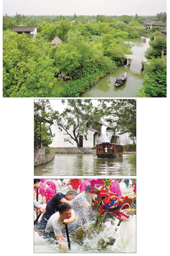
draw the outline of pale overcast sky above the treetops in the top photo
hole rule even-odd
[[[156,15],[166,0],[3,0],[3,15]]]

